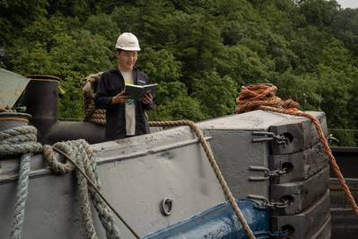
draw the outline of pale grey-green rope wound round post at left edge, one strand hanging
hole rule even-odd
[[[42,150],[42,146],[36,142],[36,132],[36,128],[31,126],[10,128],[0,132],[0,156],[22,154],[11,239],[18,239],[22,236],[26,199],[29,193],[31,155]]]

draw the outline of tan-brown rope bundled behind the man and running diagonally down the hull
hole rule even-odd
[[[86,85],[83,87],[83,99],[84,99],[84,121],[90,121],[93,123],[97,123],[100,125],[106,124],[106,111],[99,109],[96,109],[94,105],[94,94],[93,94],[93,87],[97,82],[100,80],[100,73],[95,75],[89,75],[86,78]],[[92,117],[93,115],[93,117]],[[229,186],[227,185],[225,179],[223,178],[223,173],[220,171],[219,166],[216,163],[216,160],[214,158],[213,152],[211,151],[210,146],[206,143],[205,137],[200,130],[200,128],[196,127],[196,124],[193,121],[190,120],[178,120],[178,121],[149,121],[149,126],[152,127],[176,127],[176,126],[188,126],[191,128],[195,134],[196,137],[199,139],[200,144],[203,146],[205,155],[209,159],[210,164],[212,165],[214,169],[214,173],[216,175],[216,178],[218,179],[220,185],[222,186],[223,192],[227,199],[229,200],[231,207],[234,209],[235,214],[240,220],[240,223],[246,233],[249,235],[250,239],[256,238],[253,234],[252,230],[249,228],[248,222],[246,221],[245,217],[243,217],[240,208],[238,207],[238,204],[235,201],[235,198],[233,197],[231,190]]]

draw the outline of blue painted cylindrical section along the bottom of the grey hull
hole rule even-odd
[[[242,214],[257,238],[269,238],[270,214],[268,209],[258,208],[250,200],[238,200]],[[248,238],[240,221],[226,202],[205,212],[188,218],[157,232],[144,236],[145,239],[159,238]]]

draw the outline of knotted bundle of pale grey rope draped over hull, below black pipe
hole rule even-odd
[[[44,146],[43,153],[50,168],[56,173],[70,173],[74,171],[74,164],[67,161],[65,164],[60,163],[59,155],[54,152],[54,148],[65,152],[74,162],[78,164],[90,180],[94,183],[96,188],[100,188],[100,181],[96,173],[96,162],[94,160],[92,149],[88,143],[83,139],[57,142],[53,146]],[[98,238],[93,226],[91,204],[89,194],[91,195],[92,203],[96,208],[100,217],[102,226],[106,229],[107,238],[120,238],[118,227],[115,225],[114,218],[110,213],[110,208],[107,203],[100,198],[98,193],[88,187],[87,180],[83,174],[76,170],[77,184],[78,184],[78,198],[81,214],[83,216],[83,224],[85,227],[86,238]]]

